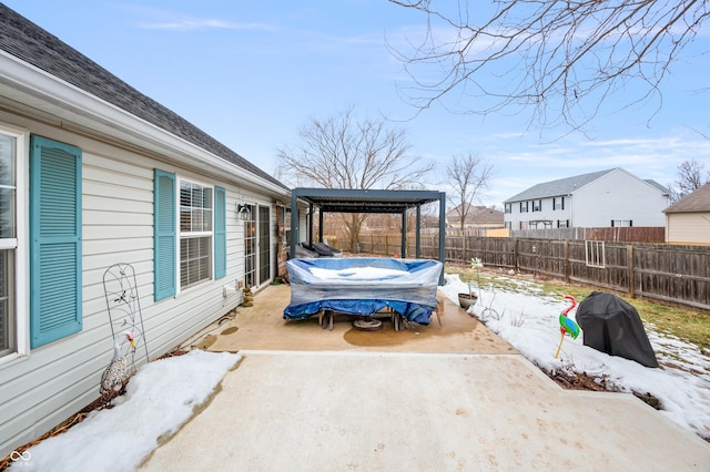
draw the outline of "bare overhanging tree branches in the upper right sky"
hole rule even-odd
[[[466,112],[527,105],[532,121],[571,129],[613,93],[627,106],[660,103],[670,64],[710,16],[704,0],[389,1],[427,17],[419,45],[390,47],[416,83],[403,90],[413,104],[458,91],[471,99]],[[433,71],[440,74],[426,80]]]

